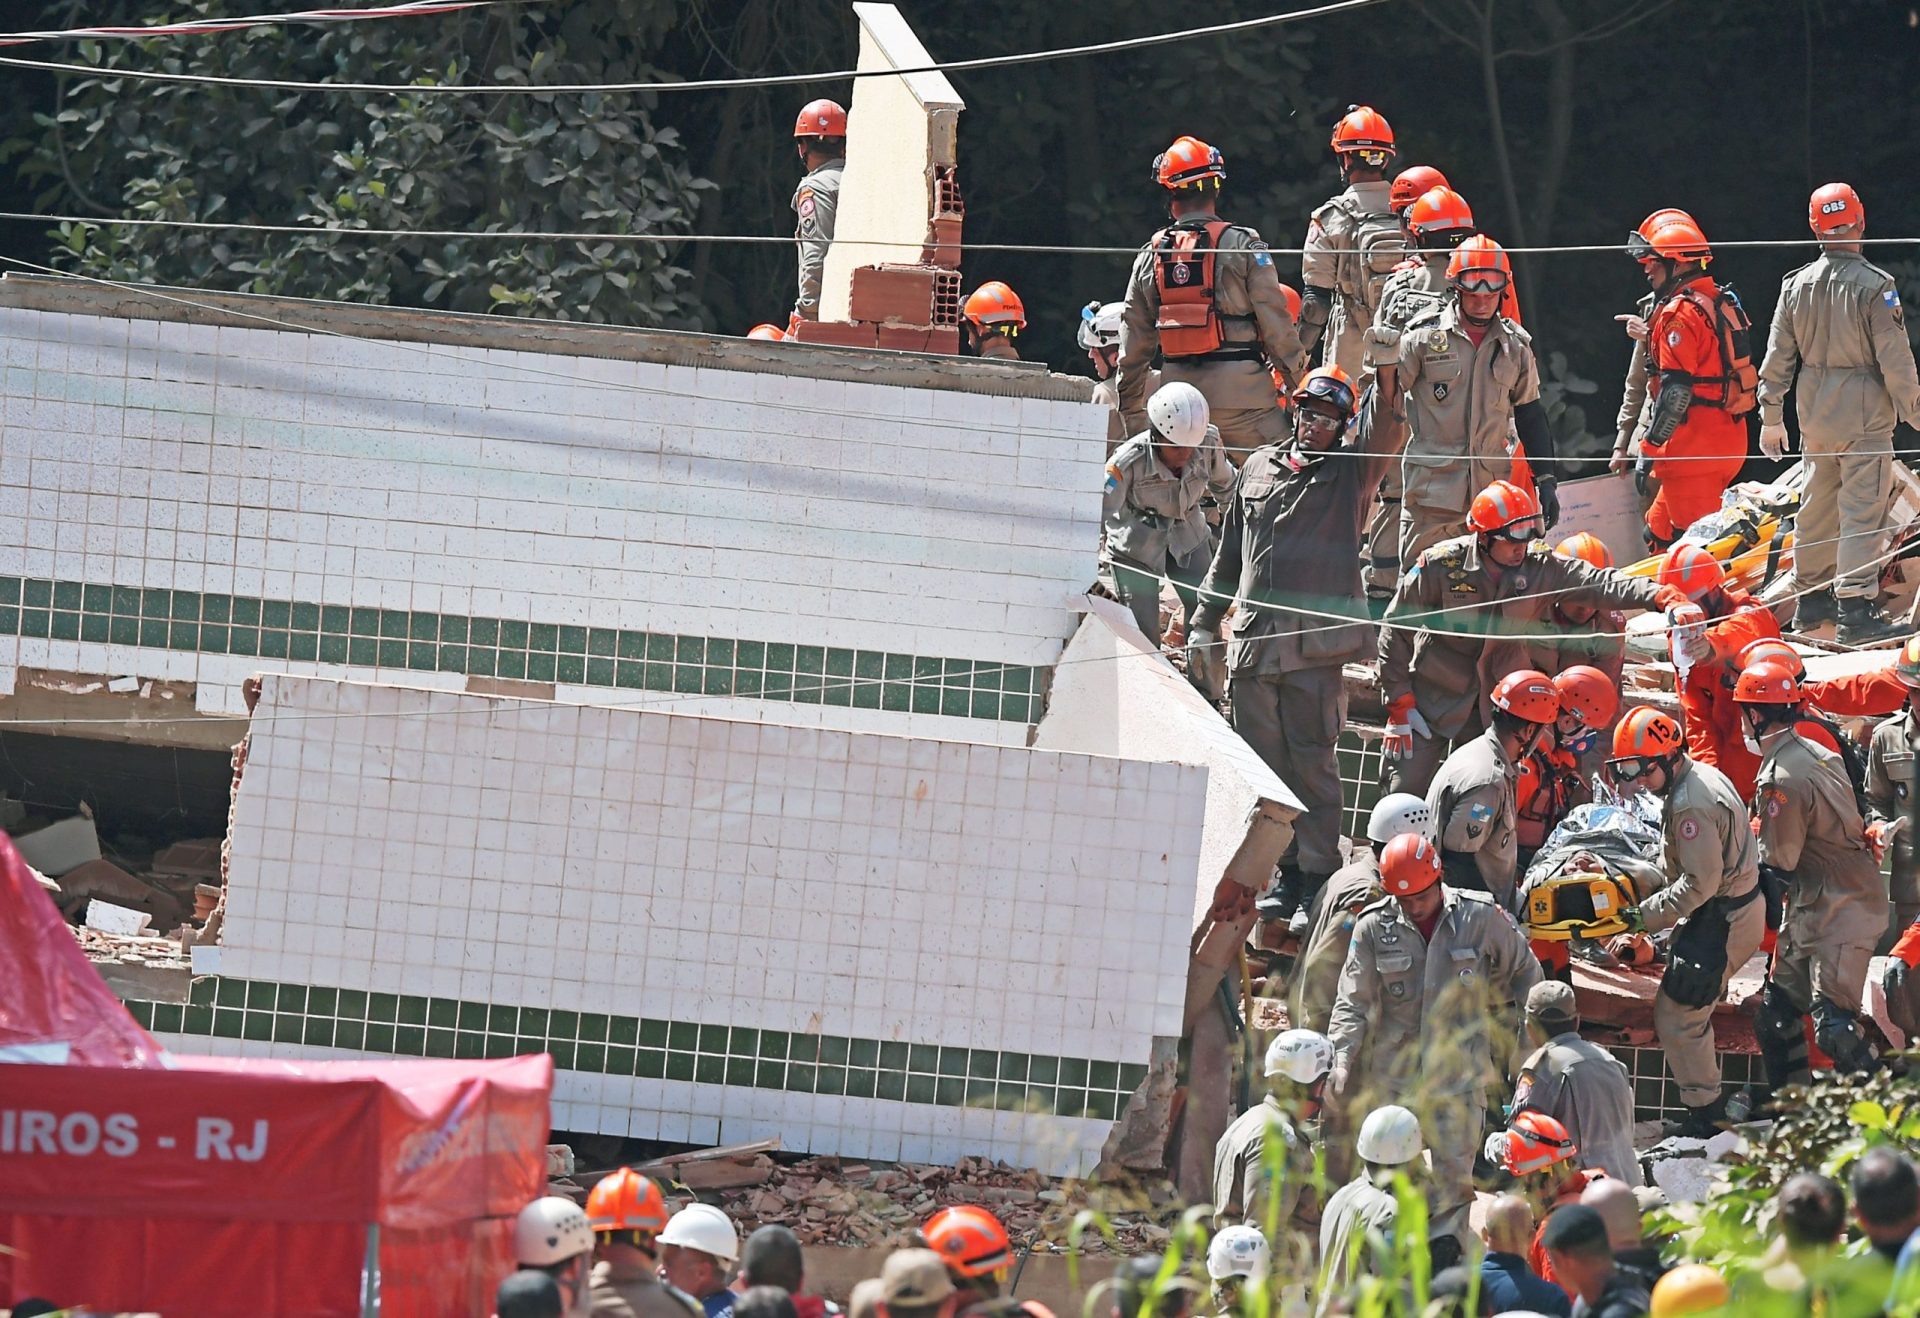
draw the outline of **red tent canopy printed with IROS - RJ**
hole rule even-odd
[[[6,1301],[488,1312],[545,1185],[549,1057],[169,1057],[0,836],[0,1057],[60,1045],[67,1064],[0,1064]]]

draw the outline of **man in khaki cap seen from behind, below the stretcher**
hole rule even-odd
[[[1580,1157],[1628,1185],[1640,1185],[1634,1153],[1634,1082],[1619,1057],[1580,1034],[1571,984],[1542,980],[1526,991],[1526,1039],[1513,1111],[1546,1112],[1580,1147]]]

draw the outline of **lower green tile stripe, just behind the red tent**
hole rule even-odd
[[[396,1057],[551,1053],[561,1070],[1102,1120],[1119,1116],[1127,1097],[1146,1078],[1146,1066],[1137,1062],[221,976],[194,980],[186,1003],[132,999],[127,1009],[142,1026],[161,1034],[309,1043]]]

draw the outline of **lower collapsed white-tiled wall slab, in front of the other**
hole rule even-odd
[[[597,1037],[557,1039],[555,1126],[1085,1172],[1152,1039],[1181,1032],[1206,780],[1077,753],[269,678],[219,955],[221,988],[246,988],[221,997],[215,1011],[236,1014],[205,1022],[209,1043],[372,1043],[371,1026],[330,1020],[338,989],[432,999],[442,1045],[474,1055],[501,1007],[509,1051],[526,1045],[522,1009],[543,1026],[547,1013],[670,1022],[699,1034],[684,1080],[612,1074],[605,1020]],[[261,984],[273,1020],[248,1020]],[[298,991],[292,1024],[278,986]],[[741,1030],[762,1049],[766,1032],[791,1039],[774,1059],[753,1039],[741,1055]],[[432,1051],[434,1034],[415,1043]],[[839,1043],[785,1061],[814,1036]],[[837,1091],[808,1091],[816,1066],[828,1087],[829,1047],[852,1049]],[[872,1078],[854,1074],[862,1057]],[[804,1087],[787,1087],[803,1062]],[[895,1062],[904,1091],[881,1097]]]

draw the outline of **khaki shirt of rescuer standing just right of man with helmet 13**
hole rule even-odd
[[[1880,866],[1862,836],[1839,755],[1797,732],[1776,736],[1753,780],[1761,863],[1793,876],[1793,941],[1872,943],[1887,926]]]

